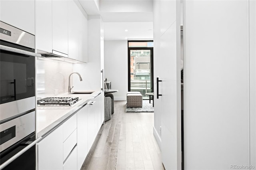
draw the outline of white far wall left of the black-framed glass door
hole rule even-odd
[[[104,75],[117,89],[114,100],[126,101],[128,91],[128,46],[127,41],[104,41]]]

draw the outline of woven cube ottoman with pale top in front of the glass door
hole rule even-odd
[[[142,94],[139,93],[127,93],[127,105],[126,107],[142,107]]]

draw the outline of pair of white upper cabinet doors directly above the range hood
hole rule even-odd
[[[68,1],[36,0],[36,49],[68,57]]]

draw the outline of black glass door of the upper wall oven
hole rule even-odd
[[[35,57],[1,50],[0,104],[35,96]]]

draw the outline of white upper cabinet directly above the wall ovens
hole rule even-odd
[[[35,1],[1,0],[0,20],[35,35]]]

